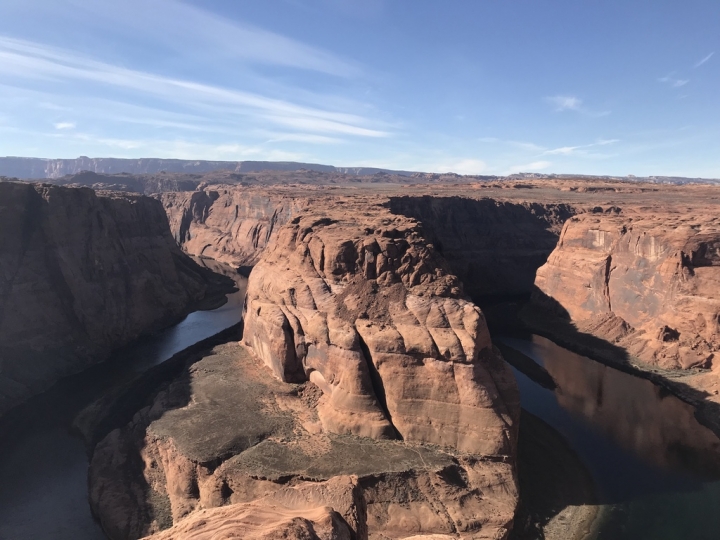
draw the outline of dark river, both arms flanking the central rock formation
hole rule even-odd
[[[103,364],[68,377],[0,422],[0,539],[95,540],[88,459],[76,415],[115,385],[239,322],[241,290]],[[720,440],[690,405],[651,382],[538,336],[496,338],[552,377],[515,370],[522,406],[564,437],[589,472],[600,512],[586,540],[720,538]]]

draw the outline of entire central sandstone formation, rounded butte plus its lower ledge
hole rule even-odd
[[[519,396],[417,221],[328,202],[284,225],[228,342],[101,441],[112,538],[506,538]],[[164,530],[167,529],[167,530]]]

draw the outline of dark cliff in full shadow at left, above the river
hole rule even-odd
[[[0,184],[0,413],[189,311],[213,285],[162,206]]]

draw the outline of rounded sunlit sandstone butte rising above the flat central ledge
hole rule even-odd
[[[482,313],[417,222],[361,208],[280,231],[248,281],[244,343],[323,390],[328,432],[512,456],[517,391]]]

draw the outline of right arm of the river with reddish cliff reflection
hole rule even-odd
[[[496,339],[558,386],[515,371],[523,408],[565,437],[595,482],[601,512],[588,540],[720,539],[720,439],[690,405],[545,338]]]

